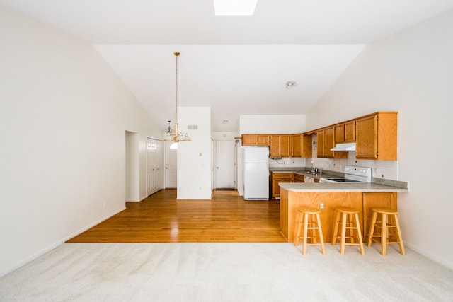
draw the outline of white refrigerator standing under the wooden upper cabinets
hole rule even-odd
[[[269,147],[243,149],[243,199],[269,200]]]

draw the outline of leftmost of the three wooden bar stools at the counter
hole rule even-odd
[[[296,224],[296,230],[294,231],[294,245],[299,245],[299,239],[303,238],[302,244],[302,255],[306,254],[307,245],[321,245],[321,252],[323,255],[326,254],[324,249],[324,238],[323,231],[321,228],[321,219],[319,219],[320,209],[301,207],[298,209],[299,219]],[[315,221],[316,219],[316,221]],[[304,225],[304,235],[301,236],[302,225]],[[308,236],[308,231],[311,231],[311,236]],[[316,230],[319,232],[319,243],[316,243]],[[307,239],[311,239],[311,243],[307,243]]]

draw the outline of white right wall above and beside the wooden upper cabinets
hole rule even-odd
[[[307,126],[398,111],[398,178],[410,190],[398,195],[403,239],[453,268],[452,33],[449,11],[367,45],[309,112]]]

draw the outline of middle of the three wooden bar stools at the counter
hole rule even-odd
[[[337,238],[340,239],[340,254],[345,253],[345,245],[359,245],[360,254],[364,255],[365,250],[363,250],[362,242],[362,232],[360,231],[360,221],[359,221],[359,211],[357,209],[348,208],[348,207],[337,207],[336,209],[337,216],[335,220],[335,226],[333,228],[333,237],[332,245],[335,245]],[[341,235],[338,234],[338,226],[341,222]],[[349,230],[349,236],[346,236],[346,230]],[[354,242],[354,230],[357,230],[357,240],[358,243]],[[346,238],[350,239],[349,243],[346,243]]]

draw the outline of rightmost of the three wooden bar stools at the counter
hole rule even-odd
[[[384,209],[384,208],[373,208],[373,217],[371,221],[371,226],[369,227],[369,237],[368,237],[368,246],[371,246],[372,241],[381,244],[381,254],[386,255],[386,246],[393,243],[398,243],[399,251],[401,255],[406,255],[403,245],[403,237],[401,236],[401,229],[399,228],[398,222],[398,211],[394,209]],[[377,221],[377,214],[381,214],[381,221]],[[393,222],[391,223],[389,217],[393,217]],[[380,228],[380,234],[374,235],[374,228]],[[389,240],[389,228],[396,228],[396,241]],[[374,239],[374,237],[381,238],[381,240]]]

